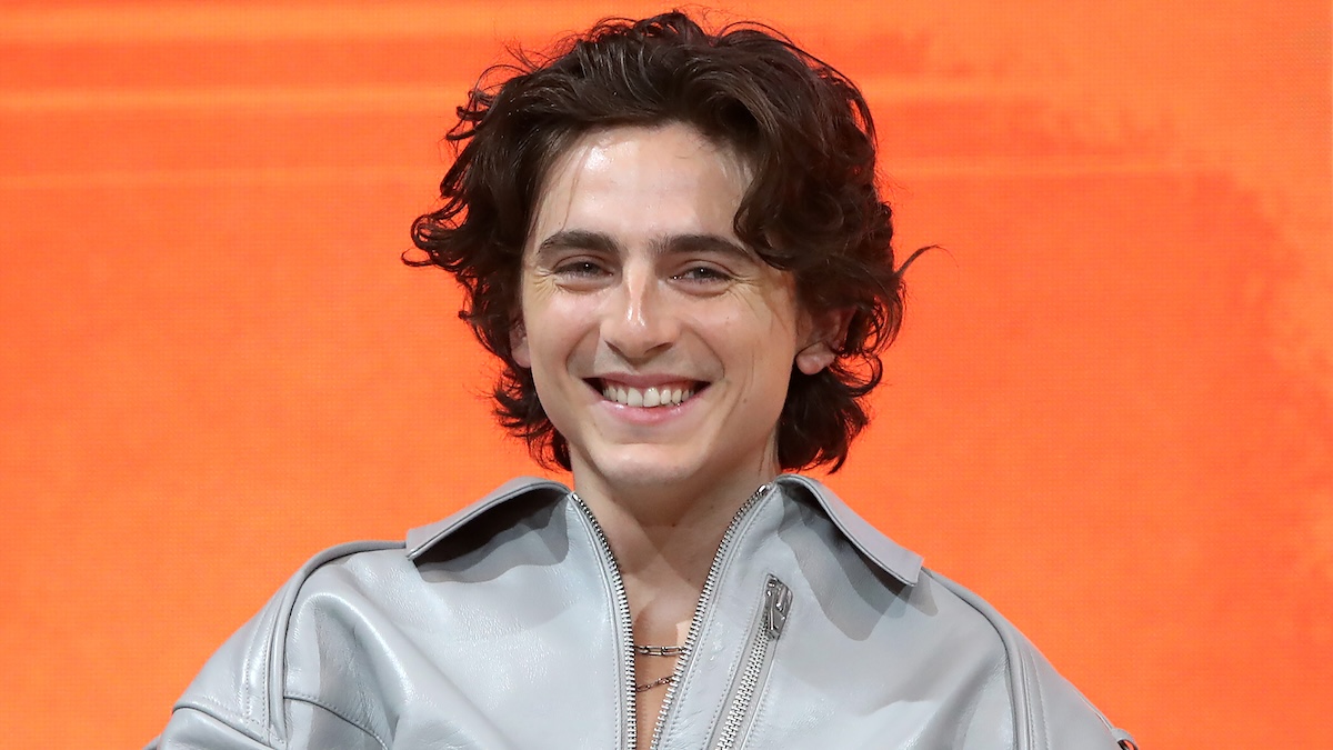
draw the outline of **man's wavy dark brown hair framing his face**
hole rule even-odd
[[[539,460],[568,470],[569,446],[511,351],[527,232],[548,168],[575,139],[664,123],[689,124],[750,161],[736,235],[794,275],[806,311],[850,311],[832,366],[816,375],[793,366],[777,432],[784,470],[836,471],[868,422],[864,398],[902,320],[901,267],[876,188],[865,99],[769,27],[709,32],[680,12],[608,19],[551,55],[519,52],[488,69],[445,136],[457,155],[440,184],[443,207],[412,224],[428,258],[404,262],[439,266],[463,284],[459,315],[504,363],[495,387],[500,423]]]

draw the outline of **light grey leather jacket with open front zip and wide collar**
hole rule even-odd
[[[736,515],[676,669],[657,726],[636,726],[629,605],[607,538],[568,488],[520,479],[405,544],[312,559],[149,747],[1129,742],[985,602],[798,475]]]

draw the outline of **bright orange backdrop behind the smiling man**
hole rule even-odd
[[[0,5],[0,745],[141,745],[304,558],[531,471],[399,252],[504,43],[655,9]],[[948,248],[834,487],[1145,747],[1328,746],[1329,4],[729,12]]]

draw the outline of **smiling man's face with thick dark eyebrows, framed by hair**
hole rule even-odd
[[[552,164],[513,351],[576,486],[745,494],[778,471],[777,418],[812,326],[792,275],[732,230],[749,180],[682,124],[595,131]],[[820,356],[798,364],[818,371]]]

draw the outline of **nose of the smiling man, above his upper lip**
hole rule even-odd
[[[669,292],[651,268],[627,264],[608,295],[601,338],[627,362],[652,359],[670,348],[680,332]]]

